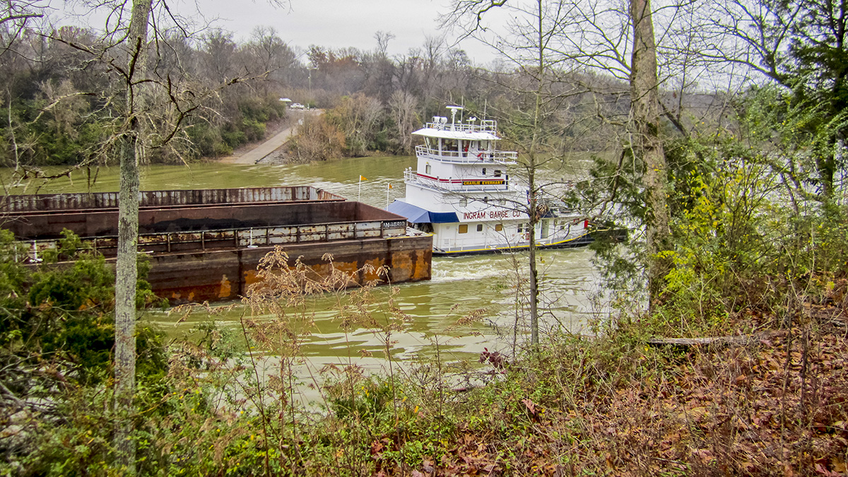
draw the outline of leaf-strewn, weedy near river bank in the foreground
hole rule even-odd
[[[376,303],[367,292],[353,298]],[[374,312],[343,305],[371,323],[382,350],[340,340],[349,355],[305,379],[317,410],[292,394],[302,381],[297,330],[310,326],[312,306],[286,320],[244,317],[247,353],[233,352],[232,333],[206,328],[201,340],[172,344],[155,389],[144,384],[139,474],[835,477],[848,451],[845,305],[806,302],[790,323],[749,310],[716,330],[756,331],[719,346],[649,345],[665,323],[616,314],[592,339],[550,335],[515,358],[484,351],[482,370],[437,353],[389,361],[379,375],[360,362],[393,352],[403,314],[384,314],[391,300]],[[474,381],[457,386],[462,377]],[[9,454],[0,471],[114,474],[102,425],[114,418],[109,393],[66,398],[67,424],[20,421],[27,452]]]

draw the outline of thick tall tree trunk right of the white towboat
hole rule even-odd
[[[645,227],[648,254],[650,306],[658,297],[668,271],[668,261],[659,253],[668,250],[669,214],[666,201],[666,154],[660,138],[660,99],[657,93],[656,44],[650,0],[630,0],[633,21],[633,56],[630,98],[633,115],[631,147],[644,160]]]

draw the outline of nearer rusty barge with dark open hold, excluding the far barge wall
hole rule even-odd
[[[114,210],[31,211],[6,219],[0,227],[10,229],[20,240],[33,240],[33,250],[35,240],[41,241],[38,247],[49,246],[63,228],[68,228],[83,239],[93,239],[107,257],[114,256],[109,248],[117,233]],[[394,222],[400,223],[400,231],[396,231]],[[252,227],[258,227],[259,233],[261,227],[286,226],[293,226],[297,232],[296,241],[279,245],[289,255],[289,266],[299,257],[318,275],[326,276],[331,267],[322,256],[332,254],[335,267],[356,272],[355,283],[431,278],[431,235],[402,235],[405,220],[401,216],[357,202],[327,200],[142,210],[139,248],[148,250],[148,282],[156,295],[175,304],[237,299],[257,282],[256,269],[259,261],[274,250],[271,244],[293,240],[285,236],[285,231],[275,229],[265,232],[282,235],[271,235],[270,239],[257,236],[254,246]],[[222,228],[230,230],[198,234]],[[226,235],[226,239],[216,240],[217,235]],[[167,243],[151,242],[163,236]],[[171,239],[183,241],[172,243]],[[114,259],[107,260],[114,263]],[[388,267],[388,279],[376,272],[357,272],[366,265]]]

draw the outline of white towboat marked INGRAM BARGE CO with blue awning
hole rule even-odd
[[[406,217],[411,227],[432,233],[433,253],[460,255],[520,250],[530,234],[540,248],[575,247],[593,241],[589,221],[566,210],[561,201],[537,198],[541,212],[529,227],[526,187],[510,179],[518,154],[499,151],[495,121],[456,121],[460,106],[448,106],[451,120],[435,116],[413,134],[417,170],[404,171],[406,197],[388,210]]]

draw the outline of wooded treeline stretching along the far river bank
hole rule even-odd
[[[200,99],[191,110],[175,112],[176,140],[148,151],[147,160],[178,163],[231,154],[265,137],[269,125],[284,121],[281,98],[326,111],[301,126],[289,144],[291,158],[300,161],[371,151],[410,154],[410,132],[433,115],[445,115],[446,104],[466,105],[466,117],[488,110],[489,115],[521,121],[522,84],[528,81],[521,71],[476,68],[465,52],[435,38],[390,57],[390,39],[378,34],[373,51],[317,46],[298,51],[268,27],[255,29],[242,43],[223,31],[194,39],[165,35],[151,46],[148,69],[153,79],[179,84],[174,94],[181,98]],[[92,60],[98,43],[103,43],[98,32],[76,27],[30,30],[0,53],[0,77],[7,79],[0,92],[4,166],[109,162],[103,143],[119,129],[113,118],[120,115],[112,111],[122,104],[115,99],[120,94],[114,94],[120,85],[110,84],[114,76],[105,74],[109,65]],[[568,91],[577,83],[592,83],[603,93],[568,97],[567,107],[548,118],[548,126],[561,131],[564,149],[602,149],[611,134],[599,118],[627,114],[627,87],[573,75],[558,84]],[[599,107],[604,115],[598,114]],[[154,126],[159,127],[155,133],[170,133]],[[507,132],[510,128],[503,122],[500,126]]]

